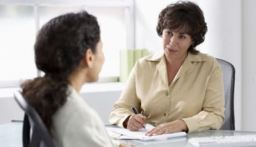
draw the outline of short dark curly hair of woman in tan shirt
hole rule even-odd
[[[204,42],[207,32],[202,10],[197,4],[189,1],[178,1],[162,9],[158,15],[157,34],[162,37],[165,28],[191,36],[194,43],[189,46],[188,52],[192,54],[198,54],[199,51],[195,47]]]

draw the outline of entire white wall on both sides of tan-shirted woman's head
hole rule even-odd
[[[136,47],[151,53],[161,51],[162,41],[155,31],[162,8],[176,1],[135,1]],[[204,11],[208,32],[205,42],[198,46],[201,52],[224,59],[235,66],[235,127],[237,130],[256,131],[256,66],[255,6],[256,1],[197,0]],[[243,6],[242,6],[243,5]],[[242,81],[243,80],[243,81]]]

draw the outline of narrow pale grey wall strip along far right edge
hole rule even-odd
[[[242,129],[256,131],[256,1],[242,2]]]

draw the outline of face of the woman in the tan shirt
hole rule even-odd
[[[167,59],[185,60],[190,45],[193,44],[191,36],[164,29],[162,34],[164,54]]]

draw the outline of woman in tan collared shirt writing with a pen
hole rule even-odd
[[[163,52],[135,64],[109,122],[130,131],[150,123],[155,128],[149,136],[219,129],[224,122],[222,71],[215,58],[196,49],[206,32],[197,4],[178,1],[162,9],[157,34]],[[130,104],[142,115],[134,114]]]

